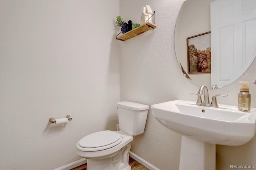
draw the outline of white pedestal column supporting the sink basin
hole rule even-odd
[[[180,170],[215,170],[216,145],[182,135]]]

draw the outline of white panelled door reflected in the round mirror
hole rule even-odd
[[[238,79],[256,55],[256,1],[216,0],[210,4],[210,17],[211,85],[224,87]]]

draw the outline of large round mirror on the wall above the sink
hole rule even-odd
[[[221,88],[238,79],[256,57],[255,0],[186,0],[174,35],[184,76],[194,85]]]

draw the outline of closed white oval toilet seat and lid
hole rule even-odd
[[[110,130],[104,130],[85,136],[79,140],[78,145],[84,151],[99,151],[116,146],[120,142],[122,142],[122,135]]]

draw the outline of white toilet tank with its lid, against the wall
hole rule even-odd
[[[148,105],[121,101],[117,103],[117,107],[120,130],[133,136],[143,134],[148,116]]]

